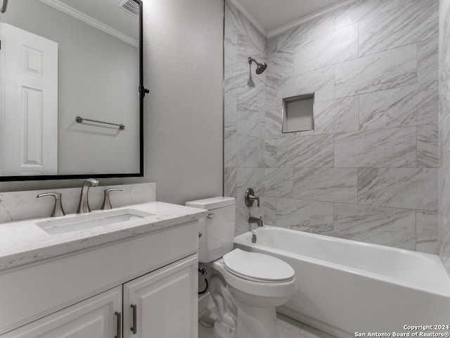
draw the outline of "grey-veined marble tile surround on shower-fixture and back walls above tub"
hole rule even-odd
[[[438,10],[439,0],[361,0],[265,39],[226,4],[224,193],[236,197],[236,234],[255,215],[437,253]],[[255,87],[248,56],[268,64],[252,67]],[[283,134],[281,100],[309,92],[315,129]],[[245,206],[248,187],[260,208]]]

